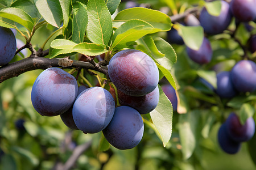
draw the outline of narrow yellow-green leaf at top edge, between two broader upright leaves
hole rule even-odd
[[[63,14],[63,32],[65,28],[68,27],[69,15],[71,14],[71,10],[72,10],[71,1],[72,0],[59,0],[62,14]]]

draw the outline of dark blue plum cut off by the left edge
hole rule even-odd
[[[0,66],[13,59],[16,52],[16,39],[10,28],[0,27]]]

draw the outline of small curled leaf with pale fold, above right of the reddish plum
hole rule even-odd
[[[172,48],[171,44],[160,37],[156,38],[154,42],[158,50],[165,56],[162,58],[155,58],[156,61],[158,61],[160,65],[165,67],[167,70],[171,70],[172,65],[177,61],[177,55],[174,48]]]

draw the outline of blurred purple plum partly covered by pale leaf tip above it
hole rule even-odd
[[[204,64],[209,63],[212,59],[212,46],[210,45],[210,41],[204,37],[204,40],[199,48],[199,50],[191,49],[187,46],[187,54],[188,57],[192,59],[192,61]]]

